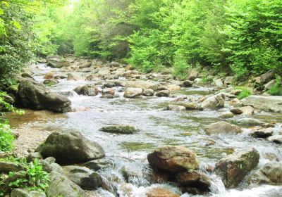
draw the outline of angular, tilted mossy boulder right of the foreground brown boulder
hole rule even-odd
[[[238,186],[258,163],[259,152],[255,148],[247,148],[221,158],[216,163],[215,172],[227,188],[232,188]]]

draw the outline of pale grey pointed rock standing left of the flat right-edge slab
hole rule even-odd
[[[223,108],[224,107],[224,94],[216,94],[213,96],[209,96],[202,101],[200,104],[200,108],[210,108],[210,109],[217,109],[217,108]]]

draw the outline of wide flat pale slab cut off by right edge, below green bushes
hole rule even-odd
[[[282,96],[247,96],[242,100],[243,106],[252,106],[259,110],[282,113]]]

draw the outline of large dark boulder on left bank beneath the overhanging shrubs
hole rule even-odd
[[[51,92],[43,84],[32,80],[20,82],[18,97],[25,108],[47,109],[60,113],[71,111],[71,101],[66,96]]]

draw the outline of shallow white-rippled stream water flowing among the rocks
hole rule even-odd
[[[49,72],[50,69],[45,65],[39,65],[35,70],[35,80],[42,82],[44,74]],[[20,120],[11,117],[11,125],[13,127],[27,128],[77,129],[87,138],[101,144],[106,152],[106,158],[111,160],[112,163],[111,166],[101,172],[104,181],[109,184],[108,191],[99,190],[102,196],[141,197],[145,196],[148,189],[156,186],[166,187],[171,191],[180,193],[176,186],[171,183],[152,184],[150,180],[151,169],[147,163],[147,154],[157,146],[181,145],[190,148],[197,153],[201,169],[204,169],[205,165],[214,166],[216,161],[225,155],[247,147],[255,147],[259,151],[261,155],[259,166],[269,162],[269,160],[262,157],[264,153],[276,153],[282,159],[281,146],[271,144],[264,139],[255,139],[248,136],[249,129],[243,129],[242,134],[207,136],[203,127],[221,120],[219,111],[191,110],[174,112],[162,110],[174,98],[124,98],[123,93],[118,92],[121,87],[115,88],[117,94],[120,95],[118,98],[100,98],[101,95],[78,96],[72,89],[78,85],[93,84],[93,82],[59,81],[60,83],[51,87],[51,90],[68,94],[68,98],[72,101],[72,107],[78,109],[76,112],[51,115],[45,117],[44,121],[42,119],[37,120],[36,117],[30,117],[29,113],[27,113],[20,117]],[[214,93],[213,88],[204,87],[181,89],[181,91],[175,92],[178,96],[192,96],[195,98],[212,93]],[[226,108],[220,111],[227,111],[228,108],[230,106],[226,104]],[[234,117],[230,119],[230,122],[235,122],[240,117],[242,116]],[[276,122],[274,129],[276,132],[281,127],[282,114],[257,113],[255,118],[266,122]],[[140,132],[119,135],[99,131],[99,128],[113,124],[133,125],[139,128]],[[211,140],[216,143],[207,146]],[[129,184],[125,184],[124,168],[130,174],[128,177]],[[249,188],[243,182],[236,189],[226,190],[219,177],[216,177],[215,174],[209,174],[209,176],[213,180],[212,192],[206,196],[281,196],[282,186]],[[182,193],[182,196],[193,195]]]

